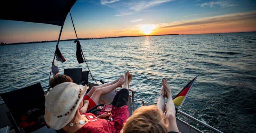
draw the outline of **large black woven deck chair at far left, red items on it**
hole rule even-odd
[[[43,111],[44,114],[45,97],[41,83],[36,83],[25,88],[5,92],[0,94],[0,96],[9,109],[6,114],[16,133],[32,132],[45,126],[42,124],[34,124],[25,128],[24,130],[19,126],[19,124],[22,122],[21,117],[30,109],[38,108],[39,110]]]

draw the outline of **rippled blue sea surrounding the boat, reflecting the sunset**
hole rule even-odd
[[[222,132],[256,132],[256,32],[108,38],[80,43],[96,79],[111,82],[130,71],[130,88],[147,103],[156,104],[162,79],[167,79],[174,97],[198,75],[181,111]],[[0,93],[38,82],[47,86],[55,47],[56,42],[0,46]],[[88,70],[85,63],[78,64],[73,41],[60,42],[59,49],[66,62],[55,60],[58,74],[64,74],[64,68]],[[136,102],[135,108],[141,105]],[[180,114],[177,117],[203,132],[213,132]]]

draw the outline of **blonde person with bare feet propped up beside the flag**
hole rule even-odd
[[[166,95],[165,95],[166,94]],[[165,106],[164,98],[169,97]],[[164,116],[164,109],[166,115]],[[123,133],[178,133],[175,106],[167,79],[162,80],[157,105],[142,106],[136,109],[123,126]]]

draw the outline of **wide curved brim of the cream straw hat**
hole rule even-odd
[[[79,98],[78,103],[76,104],[75,108],[66,116],[58,118],[56,115],[54,115],[53,113],[51,113],[50,111],[48,111],[45,108],[45,116],[44,117],[45,117],[45,122],[47,123],[47,125],[54,128],[55,130],[59,130],[59,129],[63,128],[64,126],[66,126],[73,119],[80,102],[83,100],[83,97],[86,93],[87,88],[88,88],[87,86],[84,88],[81,88],[81,90],[82,90],[81,97]],[[63,105],[63,106],[65,106],[65,105]]]

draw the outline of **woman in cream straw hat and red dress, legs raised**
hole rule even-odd
[[[87,87],[81,89],[77,84],[64,82],[56,85],[46,94],[45,100],[45,121],[55,130],[64,130],[67,133],[74,132],[120,132],[123,123],[128,118],[127,101],[129,98],[128,87],[132,80],[132,74],[125,73],[123,87],[115,95],[114,107],[110,114],[104,111],[104,108],[96,117],[91,113],[80,113],[79,109],[83,106],[83,96]],[[113,121],[105,118],[113,118]]]

